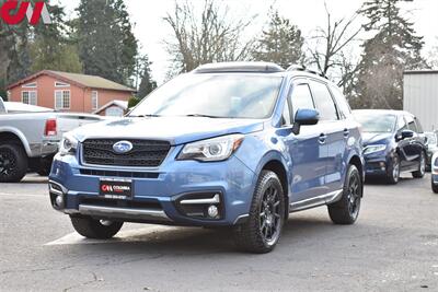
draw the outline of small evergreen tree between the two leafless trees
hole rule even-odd
[[[263,31],[253,58],[257,61],[275,62],[284,68],[302,61],[304,38],[297,25],[281,17],[278,11],[270,13],[268,28]]]

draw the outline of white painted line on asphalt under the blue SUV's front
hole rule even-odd
[[[176,229],[176,227],[154,225],[154,226],[148,226],[148,227],[142,227],[142,229],[136,229],[136,230],[120,231],[119,233],[117,233],[116,236],[114,236],[113,240],[105,240],[105,241],[85,238],[85,237],[79,235],[78,233],[72,232],[70,234],[67,234],[67,235],[58,238],[58,240],[46,243],[46,244],[44,244],[44,246],[141,242],[141,241],[145,241],[145,238],[141,238],[141,236],[150,235],[151,233],[154,233],[154,232],[169,231],[169,230],[174,230],[174,229]]]

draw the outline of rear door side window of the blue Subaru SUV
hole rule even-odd
[[[337,112],[332,94],[327,86],[320,82],[312,82],[316,109],[320,112],[320,120],[337,120]]]

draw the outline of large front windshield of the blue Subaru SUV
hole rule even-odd
[[[281,80],[273,75],[184,74],[152,92],[129,116],[267,118]]]

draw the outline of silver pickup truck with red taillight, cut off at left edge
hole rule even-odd
[[[20,182],[27,172],[47,175],[62,135],[102,117],[3,102],[0,97],[0,183]]]

